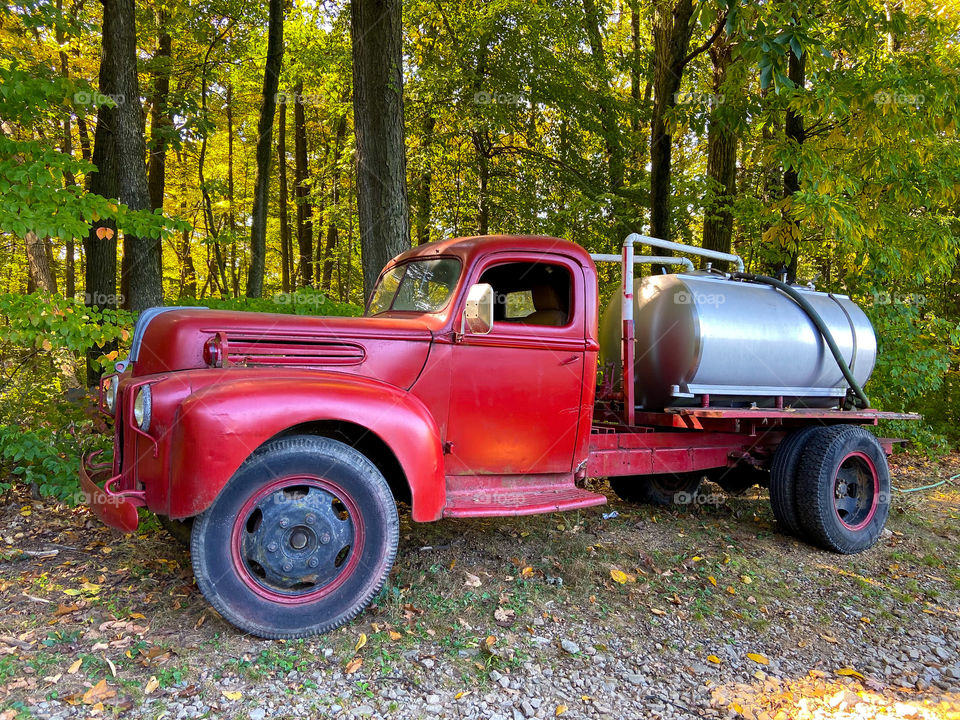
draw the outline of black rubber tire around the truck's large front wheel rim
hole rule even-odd
[[[388,527],[388,542],[390,545],[390,551],[385,563],[386,570],[382,573],[382,576],[378,579],[376,584],[371,586],[347,612],[341,613],[338,617],[333,619],[321,621],[310,627],[298,628],[291,631],[277,631],[273,628],[251,622],[231,611],[226,602],[216,591],[215,587],[213,587],[207,581],[206,574],[201,571],[201,568],[197,567],[198,563],[203,562],[202,558],[205,556],[204,530],[206,523],[210,522],[210,508],[208,508],[204,513],[198,515],[193,523],[193,532],[190,542],[190,552],[193,558],[194,575],[196,576],[197,585],[207,601],[228,622],[240,628],[244,632],[248,632],[268,640],[303,638],[313,635],[320,635],[330,632],[341,625],[345,625],[356,618],[366,609],[370,601],[376,597],[377,593],[379,593],[383,588],[384,583],[390,575],[390,569],[393,567],[394,560],[396,559],[397,545],[400,538],[400,523],[396,512],[396,504],[393,498],[393,493],[390,491],[387,481],[380,473],[380,470],[377,469],[376,465],[374,465],[367,457],[349,445],[345,445],[338,440],[315,435],[292,435],[272,440],[251,454],[250,457],[247,458],[237,469],[237,472],[233,477],[238,477],[242,472],[249,470],[252,466],[255,466],[259,463],[269,462],[270,458],[275,457],[277,453],[296,453],[302,450],[320,450],[336,459],[358,464],[359,469],[362,470],[365,475],[367,475],[368,479],[373,483],[374,488],[376,488],[376,491],[383,493],[383,499],[389,503],[390,507],[393,508],[392,522],[389,523]],[[231,480],[232,479],[233,478],[231,478]],[[214,501],[214,504],[215,503],[216,501]],[[213,506],[211,506],[211,508],[212,507]]]

